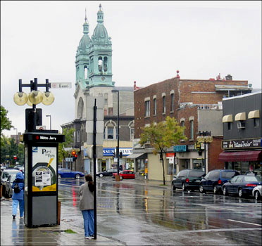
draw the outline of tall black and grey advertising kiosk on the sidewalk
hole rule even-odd
[[[25,143],[25,225],[58,224],[58,143],[65,141],[56,130],[23,134]]]

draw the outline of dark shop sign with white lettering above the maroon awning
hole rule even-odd
[[[221,143],[223,149],[260,148],[262,147],[262,138],[224,140]]]

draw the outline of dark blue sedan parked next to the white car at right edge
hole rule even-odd
[[[223,185],[223,195],[228,193],[238,194],[239,198],[244,195],[252,195],[252,190],[261,185],[261,176],[239,175]]]

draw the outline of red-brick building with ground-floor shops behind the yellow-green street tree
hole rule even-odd
[[[139,138],[142,128],[151,122],[161,122],[167,116],[175,117],[186,127],[187,141],[181,141],[180,147],[168,150],[166,179],[172,179],[180,169],[204,169],[205,154],[206,171],[223,168],[223,162],[218,162],[223,139],[223,98],[250,93],[251,90],[247,81],[232,80],[231,75],[227,75],[226,79],[218,75],[216,79],[201,80],[180,79],[178,73],[175,78],[137,89],[134,91],[134,106],[137,108],[135,138]],[[213,136],[213,142],[206,146],[206,153],[203,149],[197,151],[195,148],[199,131],[211,131]],[[148,169],[149,179],[161,179],[163,174],[159,157],[153,156],[149,148],[142,146],[134,149],[133,153],[143,153],[137,159],[144,159],[144,162],[139,162],[142,161],[144,168]],[[141,165],[139,168],[142,169]]]

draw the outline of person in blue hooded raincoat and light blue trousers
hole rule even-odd
[[[25,188],[25,182],[24,182],[24,175],[21,171],[18,171],[18,173],[15,176],[15,180],[12,184],[13,188],[13,219],[15,219],[17,210],[18,210],[18,204],[19,204],[19,212],[20,212],[20,218],[23,218],[24,216],[24,188]]]

